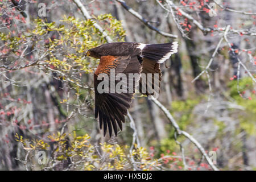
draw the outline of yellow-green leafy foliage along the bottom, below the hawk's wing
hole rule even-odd
[[[28,153],[28,164],[31,169],[53,169],[58,165],[68,161],[67,168],[75,170],[127,170],[133,169],[133,164],[139,169],[148,170],[158,166],[158,162],[150,158],[150,155],[143,147],[137,147],[131,150],[129,146],[120,146],[119,144],[102,143],[99,146],[90,143],[88,134],[77,136],[76,132],[72,134],[57,133],[49,135],[51,142],[44,140],[28,140],[15,134],[16,141],[23,146],[23,150]],[[28,144],[29,143],[29,144]],[[51,144],[50,144],[51,143]],[[39,165],[37,162],[38,151],[50,151],[50,146],[54,146],[55,155],[47,159],[45,164]]]

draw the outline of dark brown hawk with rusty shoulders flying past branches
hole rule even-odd
[[[104,137],[106,131],[109,131],[111,137],[112,130],[117,136],[117,130],[122,130],[122,122],[125,122],[125,115],[130,108],[131,100],[135,93],[135,88],[139,85],[139,92],[149,96],[155,92],[159,93],[160,81],[162,73],[160,64],[164,63],[170,56],[177,52],[177,42],[164,44],[143,44],[135,42],[114,42],[107,43],[101,46],[89,49],[86,56],[91,56],[100,59],[96,71],[94,72],[94,90],[95,90],[95,118],[99,117],[100,129],[104,129]],[[123,74],[128,77],[127,80],[121,80],[123,90],[133,90],[132,92],[104,92],[98,90],[101,81],[107,79],[111,85],[117,85],[118,81],[110,80],[111,70],[114,70],[114,75]],[[104,79],[98,79],[101,73],[105,74]],[[137,77],[129,77],[129,74],[137,74]],[[157,86],[151,86],[155,81],[154,77],[146,77],[142,79],[142,74],[157,73],[159,75]],[[105,80],[106,81],[106,80]],[[120,82],[121,82],[120,81]],[[133,84],[128,84],[128,82]],[[146,92],[142,92],[142,90]],[[152,92],[153,90],[153,92]]]

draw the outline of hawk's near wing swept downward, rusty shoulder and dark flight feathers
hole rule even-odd
[[[115,80],[110,82],[110,69],[114,69],[115,76],[118,73],[126,75],[127,80],[121,80],[123,82],[122,89],[126,89],[127,93],[111,93],[110,86],[116,86],[119,81]],[[135,88],[138,85],[139,78],[141,76],[142,65],[139,63],[137,56],[101,56],[100,64],[96,72],[94,73],[94,89],[95,89],[95,117],[99,117],[100,129],[102,125],[104,128],[104,136],[106,135],[107,128],[109,129],[109,135],[112,135],[112,127],[117,135],[117,124],[122,130],[122,122],[125,122],[125,115],[130,108],[131,99],[135,93]],[[109,89],[107,93],[99,93],[98,85],[102,80],[98,80],[98,76],[101,73],[105,73],[108,77],[105,77],[109,81]],[[130,78],[129,73],[138,73],[139,76]],[[104,78],[104,79],[105,79]],[[133,81],[133,86],[129,87],[130,81]],[[129,90],[133,92],[129,92]]]

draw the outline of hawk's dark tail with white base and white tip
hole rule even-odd
[[[142,49],[141,56],[150,60],[155,60],[157,63],[163,63],[170,56],[177,52],[177,42],[166,44],[141,44],[139,48]]]

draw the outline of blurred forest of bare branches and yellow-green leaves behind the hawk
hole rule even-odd
[[[0,0],[1,170],[255,170],[254,0]],[[88,49],[179,42],[117,137]]]

